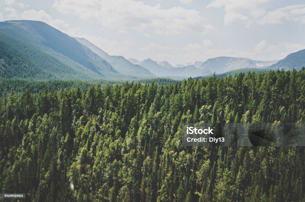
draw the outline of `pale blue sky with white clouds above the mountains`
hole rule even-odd
[[[110,55],[172,65],[305,49],[304,0],[0,0],[0,21],[39,20]]]

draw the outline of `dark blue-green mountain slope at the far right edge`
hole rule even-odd
[[[274,70],[284,69],[285,71],[287,71],[292,70],[293,68],[296,68],[296,70],[300,70],[304,66],[305,49],[287,55],[284,59],[278,61],[275,64],[272,64],[269,68]]]

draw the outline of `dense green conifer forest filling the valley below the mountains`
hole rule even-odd
[[[305,201],[303,147],[181,142],[182,123],[304,123],[304,68],[163,82],[38,82],[34,91],[2,83],[0,192],[25,201]]]

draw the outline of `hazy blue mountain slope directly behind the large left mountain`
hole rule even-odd
[[[155,76],[147,69],[141,67],[138,64],[132,64],[130,61],[126,60],[123,56],[112,56],[100,49],[99,47],[92,44],[90,41],[84,38],[74,37],[79,43],[88,47],[94,53],[98,54],[100,57],[104,58],[109,62],[118,72],[124,75],[141,76],[141,77],[152,77]]]

